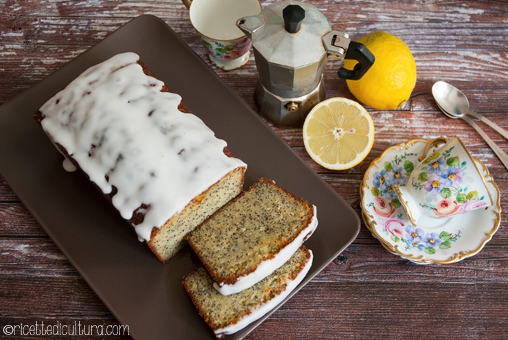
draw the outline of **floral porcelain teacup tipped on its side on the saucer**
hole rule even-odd
[[[430,141],[418,160],[406,185],[393,185],[413,225],[422,216],[448,218],[493,204],[485,179],[459,137],[448,143],[443,137]]]

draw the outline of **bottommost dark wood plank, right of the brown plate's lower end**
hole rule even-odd
[[[502,340],[506,304],[496,284],[310,282],[248,339]]]

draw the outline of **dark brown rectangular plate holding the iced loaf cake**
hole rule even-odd
[[[314,264],[299,290],[356,238],[360,219],[257,113],[161,19],[133,19],[78,58],[0,106],[0,174],[134,339],[213,339],[181,286],[196,266],[188,249],[162,264],[79,172],[32,114],[82,71],[136,52],[183,102],[245,161],[246,185],[260,177],[316,205],[319,226],[305,245]],[[227,339],[242,339],[268,315]]]

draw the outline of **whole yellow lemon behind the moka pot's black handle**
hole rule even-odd
[[[386,32],[373,32],[360,39],[376,57],[374,64],[360,80],[346,80],[349,91],[362,104],[373,109],[401,109],[416,84],[416,63],[402,39]],[[345,60],[353,69],[356,60]]]

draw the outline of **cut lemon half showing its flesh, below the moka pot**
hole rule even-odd
[[[330,98],[314,106],[305,118],[303,143],[319,165],[330,170],[353,168],[372,148],[374,122],[358,102]]]

